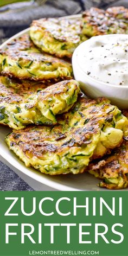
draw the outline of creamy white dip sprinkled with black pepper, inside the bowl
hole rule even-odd
[[[95,36],[79,55],[79,65],[91,78],[128,85],[128,35]]]

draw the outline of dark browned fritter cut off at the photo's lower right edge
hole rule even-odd
[[[89,164],[88,172],[102,181],[99,187],[122,189],[128,187],[128,142],[123,140],[110,156]]]

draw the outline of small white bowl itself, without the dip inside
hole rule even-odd
[[[103,35],[103,37],[111,37],[112,35]],[[124,36],[124,35],[113,35]],[[101,37],[101,36],[100,36]],[[127,35],[128,39],[128,35]],[[72,65],[75,80],[80,82],[82,91],[87,97],[106,97],[111,100],[111,104],[119,108],[128,108],[128,86],[127,85],[112,85],[106,82],[98,81],[87,75],[80,63],[81,54],[86,53],[86,47],[91,39],[81,43],[74,51],[72,57]],[[87,64],[86,64],[87,65]],[[128,71],[127,71],[128,73]]]

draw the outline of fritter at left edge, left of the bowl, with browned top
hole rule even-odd
[[[71,63],[41,53],[29,35],[8,43],[8,48],[0,51],[1,73],[18,79],[46,80],[71,79]]]

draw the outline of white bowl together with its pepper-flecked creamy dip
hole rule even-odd
[[[106,97],[128,108],[128,35],[94,36],[72,57],[74,77],[88,97]]]

